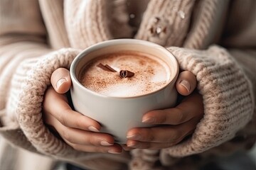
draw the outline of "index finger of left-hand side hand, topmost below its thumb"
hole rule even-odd
[[[44,111],[53,115],[62,125],[80,130],[99,132],[100,124],[76,111],[68,105],[65,95],[58,94],[52,87],[48,89],[43,102]]]

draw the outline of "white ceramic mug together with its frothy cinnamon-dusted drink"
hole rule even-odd
[[[83,50],[70,66],[75,111],[102,125],[100,132],[127,142],[131,128],[145,128],[142,116],[174,107],[178,62],[155,43],[117,39]],[[83,85],[83,86],[82,86]]]

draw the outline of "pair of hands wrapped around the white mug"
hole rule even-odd
[[[175,108],[150,111],[142,122],[155,125],[151,128],[132,128],[127,132],[126,145],[114,143],[114,137],[100,132],[97,121],[82,115],[69,106],[65,93],[70,89],[71,79],[67,69],[57,69],[43,102],[45,122],[74,149],[83,152],[109,152],[118,154],[125,150],[164,149],[176,145],[193,133],[203,117],[202,96],[194,89],[196,78],[188,71],[181,72],[176,81],[178,94],[184,96]]]

